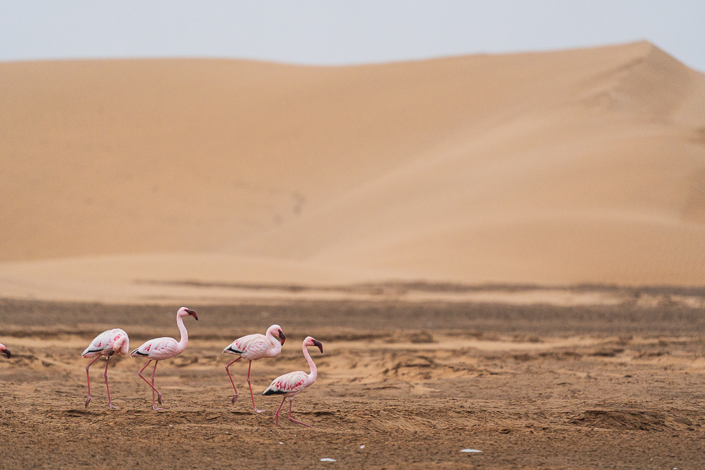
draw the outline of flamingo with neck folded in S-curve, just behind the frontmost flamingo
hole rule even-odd
[[[274,338],[276,338],[276,340]],[[262,359],[264,357],[278,356],[285,340],[286,336],[281,330],[281,326],[272,325],[267,328],[264,335],[255,333],[254,335],[243,336],[242,338],[238,338],[237,340],[231,342],[231,344],[223,350],[223,354],[234,354],[235,356],[239,356],[238,359],[235,359],[230,364],[225,366],[225,370],[228,373],[230,382],[233,384],[233,389],[235,390],[233,403],[235,403],[235,400],[238,400],[238,388],[235,387],[235,382],[233,382],[233,376],[230,375],[229,367],[244,357],[250,361],[250,365],[247,366],[247,385],[250,386],[252,409],[254,409],[257,413],[264,412],[264,409],[257,409],[255,406],[255,395],[252,394],[252,383],[250,383],[250,369],[252,368],[252,361],[257,361],[257,359]]]

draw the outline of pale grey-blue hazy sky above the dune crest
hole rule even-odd
[[[705,0],[0,0],[0,61],[348,64],[641,39],[705,70]]]

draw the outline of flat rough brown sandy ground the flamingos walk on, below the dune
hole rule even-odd
[[[178,306],[0,301],[0,462],[8,469],[700,469],[705,462],[702,307],[462,302],[281,301],[189,305],[188,349],[163,361],[164,410],[136,373],[111,361],[108,409],[92,367],[85,409],[80,352],[106,328],[131,346],[178,335]],[[223,347],[279,323],[281,356],[223,367]],[[325,326],[324,326],[325,325]],[[259,397],[280,373],[318,381],[274,426],[279,400]],[[363,447],[364,446],[364,447]],[[464,449],[482,452],[461,452]],[[336,462],[321,462],[321,459]]]

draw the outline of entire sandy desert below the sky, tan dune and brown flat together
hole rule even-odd
[[[705,75],[654,45],[0,63],[0,110],[0,466],[705,467]],[[183,305],[164,410],[125,357],[86,409]],[[272,323],[313,429],[230,401]]]

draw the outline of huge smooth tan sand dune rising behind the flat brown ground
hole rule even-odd
[[[2,63],[0,82],[0,295],[705,279],[705,75],[646,42]]]

